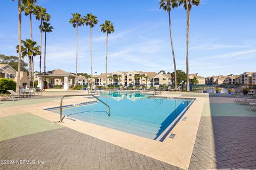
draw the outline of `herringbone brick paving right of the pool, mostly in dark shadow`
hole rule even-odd
[[[256,169],[256,117],[201,117],[189,169]]]

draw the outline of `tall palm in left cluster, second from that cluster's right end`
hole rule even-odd
[[[39,61],[39,68],[40,68],[40,73],[41,73],[41,68],[42,68],[42,32],[43,32],[43,21],[49,21],[51,19],[51,15],[46,13],[46,8],[43,8],[42,6],[36,6],[35,7],[35,14],[36,14],[36,19],[40,20],[41,23],[39,25],[40,29],[40,61]]]

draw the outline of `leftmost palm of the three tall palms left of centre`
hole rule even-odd
[[[73,25],[74,28],[76,28],[76,79],[77,79],[77,60],[78,60],[78,26],[84,25],[84,19],[81,18],[81,14],[73,13],[73,18],[70,19],[69,23]],[[77,83],[77,80],[75,79],[75,85]]]

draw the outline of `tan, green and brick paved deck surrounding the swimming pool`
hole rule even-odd
[[[158,142],[79,120],[56,123],[59,115],[43,108],[59,106],[63,94],[85,92],[49,91],[0,102],[1,160],[45,162],[0,169],[256,168],[256,112],[231,96],[164,92],[196,101],[184,115],[187,120],[171,131],[175,138]],[[68,98],[64,105],[90,100]]]

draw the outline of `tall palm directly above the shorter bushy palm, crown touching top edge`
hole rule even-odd
[[[37,0],[23,0],[21,5],[21,10],[25,12],[25,15],[29,15],[29,24],[30,24],[30,39],[33,41],[33,29],[32,29],[32,14],[34,14],[35,10],[35,3]],[[30,81],[32,81],[33,87],[34,87],[34,57],[31,57],[31,70],[33,74],[30,74],[31,77],[29,77]]]

